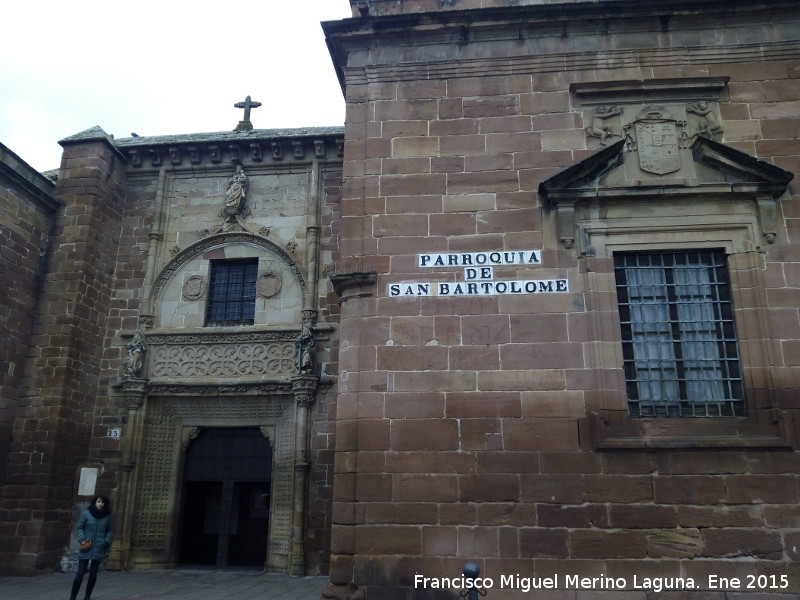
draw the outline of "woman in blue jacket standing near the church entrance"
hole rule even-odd
[[[78,543],[81,546],[78,552],[78,572],[72,582],[72,593],[69,600],[75,600],[81,589],[81,582],[86,571],[89,571],[89,581],[86,582],[86,596],[90,600],[92,589],[97,581],[97,568],[108,555],[111,541],[114,539],[114,524],[111,522],[111,503],[105,496],[95,496],[75,528]],[[91,542],[91,543],[88,543]]]

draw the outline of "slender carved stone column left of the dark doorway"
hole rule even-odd
[[[147,380],[127,378],[120,385],[121,396],[128,407],[128,422],[122,435],[122,460],[120,461],[119,496],[115,512],[120,515],[117,521],[118,538],[112,544],[108,557],[108,568],[127,569],[131,549],[131,530],[133,527],[133,505],[136,497],[136,458],[141,447],[143,420],[142,407],[147,397]]]

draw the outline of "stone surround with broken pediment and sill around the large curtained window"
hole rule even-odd
[[[590,96],[605,101],[610,91],[615,100],[628,98],[634,88],[659,99],[665,96],[662,83],[674,84],[623,83],[620,89],[608,84],[598,90],[573,86],[571,91],[584,104]],[[724,83],[697,80],[682,87],[713,100],[702,88]],[[659,89],[650,90],[654,85]],[[687,94],[684,89],[679,95],[688,99]],[[587,416],[580,423],[581,437],[596,449],[790,448],[796,443],[791,413],[781,409],[770,387],[773,336],[763,310],[762,278],[765,248],[785,237],[779,198],[793,174],[702,135],[687,150],[685,159],[696,166],[688,178],[612,176],[625,172],[623,139],[539,185],[551,241],[577,257],[585,292],[592,340],[586,363],[592,378],[584,388]],[[722,248],[728,256],[748,416],[629,417],[613,252],[704,248]]]

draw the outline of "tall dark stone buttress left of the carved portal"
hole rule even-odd
[[[78,470],[93,437],[99,348],[105,331],[124,198],[124,163],[104,136],[66,145],[56,188],[64,207],[52,234],[0,522],[14,548],[9,574],[50,571],[69,539]]]

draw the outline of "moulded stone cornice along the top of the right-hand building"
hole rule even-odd
[[[778,26],[778,13],[772,11],[785,9],[782,18],[786,19],[787,11],[794,9],[800,19],[799,8],[791,0],[559,2],[346,19],[323,23],[323,29],[344,88],[345,82],[353,85],[532,74],[602,69],[610,65],[621,68],[708,64],[730,60],[733,48],[737,61],[785,60],[800,56],[799,46],[795,39],[781,40],[779,32],[763,43],[722,47],[717,46],[716,39],[708,43],[700,40],[696,46],[678,43],[663,49],[641,48],[641,35],[636,38],[640,41],[634,41],[633,45],[604,47],[597,40],[598,36],[614,40],[631,34],[670,32],[670,19],[678,16],[683,28],[687,27],[687,18],[693,16],[702,19],[704,27],[708,19],[718,21],[720,27],[728,22],[736,27],[756,20]],[[760,16],[756,14],[758,11]],[[576,43],[575,38],[581,35],[587,36],[587,41]],[[452,45],[458,46],[461,58],[454,60],[451,53],[442,54],[442,47]],[[484,45],[491,50],[487,51]],[[393,48],[398,51],[393,52]],[[560,49],[563,51],[559,52]]]

